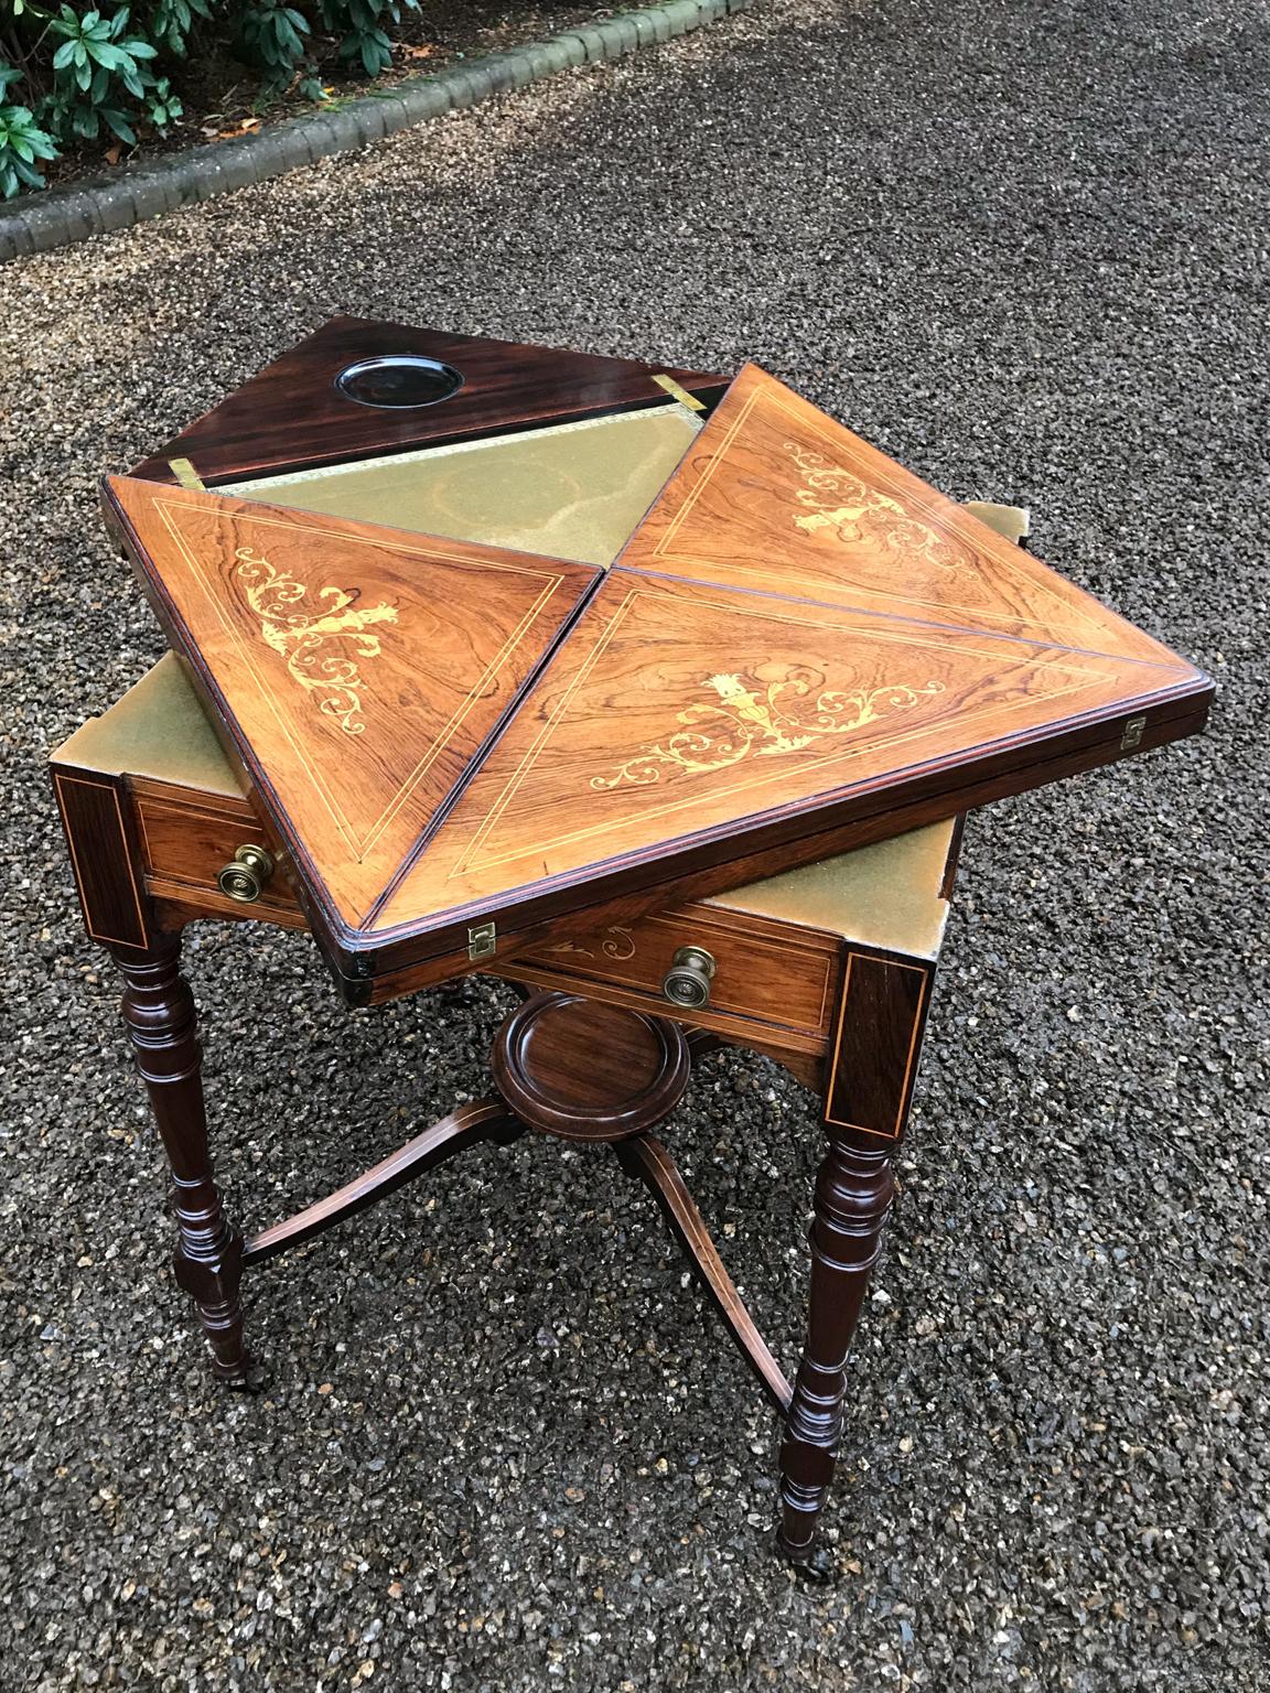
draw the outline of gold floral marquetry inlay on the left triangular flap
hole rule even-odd
[[[345,735],[362,735],[362,674],[357,659],[379,655],[374,623],[396,623],[396,609],[379,601],[359,606],[356,587],[310,587],[279,571],[251,547],[235,554],[247,603],[261,620],[261,635],[286,660],[291,677],[335,718]],[[308,604],[305,601],[308,599]],[[317,603],[315,603],[317,601]],[[334,643],[334,645],[332,645]]]

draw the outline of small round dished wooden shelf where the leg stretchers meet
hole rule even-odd
[[[506,1019],[489,1055],[494,1084],[522,1121],[569,1141],[616,1141],[667,1117],[691,1060],[682,1029],[579,994],[535,994]]]

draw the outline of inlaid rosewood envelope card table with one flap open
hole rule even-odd
[[[339,318],[103,503],[171,652],[52,775],[215,1373],[251,1385],[246,1268],[474,1143],[608,1141],[784,1419],[813,1566],[960,819],[1195,733],[1209,681],[754,366]],[[244,1239],[203,918],[308,929],[354,1006],[511,982],[489,1099]],[[654,1134],[718,1045],[823,1104],[792,1383]]]

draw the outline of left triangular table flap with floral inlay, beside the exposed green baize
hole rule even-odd
[[[305,882],[344,928],[364,921],[598,579],[129,477],[107,483],[105,503]]]

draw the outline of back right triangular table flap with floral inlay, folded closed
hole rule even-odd
[[[1182,667],[755,364],[620,564]]]

